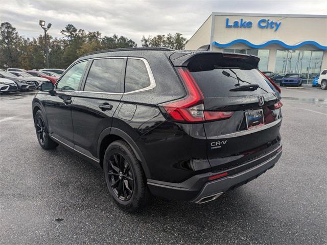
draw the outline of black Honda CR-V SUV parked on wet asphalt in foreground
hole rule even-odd
[[[65,146],[104,170],[127,211],[149,194],[215,200],[282,154],[281,97],[259,58],[130,48],[76,60],[33,100],[42,148]]]

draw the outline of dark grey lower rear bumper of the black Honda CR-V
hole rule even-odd
[[[250,168],[238,174],[226,176],[214,181],[208,181],[208,177],[219,173],[206,173],[191,177],[182,183],[169,183],[148,179],[148,186],[152,194],[168,199],[204,203],[219,197],[223,192],[236,186],[246,184],[257,178],[269,168],[272,168],[282,155],[282,145],[274,151],[265,154],[258,159],[246,162],[236,168]],[[267,157],[269,158],[267,159]],[[232,169],[235,170],[235,169]],[[226,170],[227,172],[229,170]]]

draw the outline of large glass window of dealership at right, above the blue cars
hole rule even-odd
[[[323,51],[277,50],[275,73],[298,73],[303,83],[311,84],[319,74]]]

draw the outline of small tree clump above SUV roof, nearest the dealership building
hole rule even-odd
[[[186,43],[186,38],[180,33],[167,34],[166,35],[156,35],[154,37],[148,36],[146,38],[143,36],[141,39],[143,47],[168,47],[172,50],[183,50]]]

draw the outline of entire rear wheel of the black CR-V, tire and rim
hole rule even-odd
[[[148,203],[150,192],[143,168],[125,141],[108,146],[103,170],[111,197],[121,209],[135,212]]]

